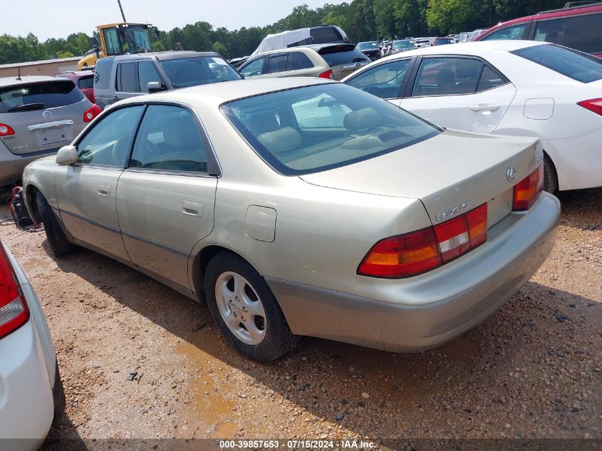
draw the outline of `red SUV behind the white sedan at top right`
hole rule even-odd
[[[602,57],[602,4],[574,6],[521,17],[484,31],[474,41],[547,41]]]

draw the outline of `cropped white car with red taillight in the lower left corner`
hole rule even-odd
[[[0,449],[37,450],[65,407],[46,318],[0,242]]]

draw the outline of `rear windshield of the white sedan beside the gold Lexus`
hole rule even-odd
[[[512,53],[581,83],[602,79],[602,58],[571,48],[543,44],[520,48]]]

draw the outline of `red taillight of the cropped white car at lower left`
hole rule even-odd
[[[0,243],[0,338],[16,331],[29,319],[29,309],[19,289],[11,263]]]

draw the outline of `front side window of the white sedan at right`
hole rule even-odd
[[[410,59],[380,64],[360,73],[347,84],[380,98],[397,98],[408,66]]]

